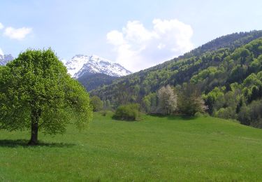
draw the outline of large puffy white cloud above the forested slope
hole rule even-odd
[[[146,29],[141,22],[129,21],[122,31],[107,34],[114,46],[117,62],[126,69],[139,71],[182,55],[194,48],[193,29],[179,20],[153,20],[153,28]]]

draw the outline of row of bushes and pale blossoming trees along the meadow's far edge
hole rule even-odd
[[[97,96],[91,97],[91,104],[94,111],[101,111],[108,108],[106,102],[101,101]],[[157,92],[147,95],[143,99],[141,107],[134,103],[125,103],[119,106],[115,112],[115,118],[120,120],[136,120],[138,109],[145,113],[172,115],[182,113],[187,116],[194,116],[195,113],[204,113],[207,110],[201,92],[197,85],[187,83],[182,87],[170,87],[166,85]]]

